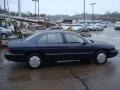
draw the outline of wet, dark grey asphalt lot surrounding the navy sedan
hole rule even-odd
[[[120,50],[120,31],[113,27],[91,34],[92,39],[114,44]],[[120,54],[104,65],[73,62],[33,70],[25,63],[5,60],[1,50],[0,90],[120,90]]]

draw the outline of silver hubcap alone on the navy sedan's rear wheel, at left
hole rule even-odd
[[[41,60],[38,56],[32,56],[29,59],[29,64],[31,67],[36,68],[39,67],[39,65],[41,64]]]

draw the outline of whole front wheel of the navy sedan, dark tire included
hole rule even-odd
[[[95,55],[96,64],[105,64],[107,62],[107,53],[104,50],[100,50]]]

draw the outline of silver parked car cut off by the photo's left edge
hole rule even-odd
[[[5,27],[0,27],[0,37],[2,39],[7,39],[8,36],[10,36],[12,34],[12,30],[11,29],[7,29]]]

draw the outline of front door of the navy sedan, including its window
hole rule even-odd
[[[91,57],[92,46],[82,37],[74,33],[64,33],[68,60],[80,60]]]

